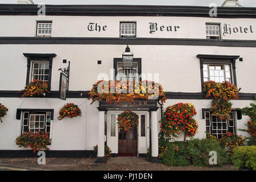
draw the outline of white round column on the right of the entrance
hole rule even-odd
[[[151,155],[158,157],[157,111],[151,111]]]

